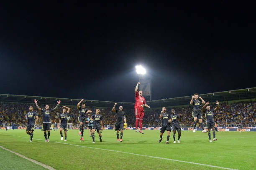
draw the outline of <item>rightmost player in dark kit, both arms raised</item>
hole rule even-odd
[[[212,143],[211,128],[212,128],[213,140],[217,140],[217,138],[215,138],[215,128],[214,128],[215,122],[213,120],[213,111],[215,111],[219,108],[219,101],[218,100],[216,101],[217,106],[212,110],[210,110],[209,103],[210,102],[205,103],[205,105],[202,107],[202,111],[204,112],[205,118],[206,118],[206,126],[207,126],[207,129],[208,129],[209,141],[210,141],[210,143]],[[206,107],[206,110],[205,110],[205,107]]]

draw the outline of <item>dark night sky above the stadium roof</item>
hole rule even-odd
[[[0,93],[134,102],[256,87],[253,7],[32,4],[0,7]]]

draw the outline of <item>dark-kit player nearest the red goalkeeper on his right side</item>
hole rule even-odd
[[[159,140],[159,143],[162,141],[164,131],[166,130],[167,131],[166,144],[168,144],[168,141],[170,139],[170,132],[171,132],[171,128],[170,128],[170,125],[169,125],[170,118],[171,118],[171,115],[169,115],[166,112],[166,108],[162,107],[162,111],[161,111],[160,116],[159,116],[159,119],[162,120],[162,128],[160,129],[160,140]]]

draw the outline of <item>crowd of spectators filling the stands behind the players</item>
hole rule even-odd
[[[8,122],[8,125],[15,124],[16,126],[25,126],[27,124],[26,112],[28,112],[29,106],[32,105],[34,110],[38,113],[38,125],[42,124],[42,112],[39,111],[35,104],[22,104],[22,103],[10,103],[2,102],[0,103],[0,125]],[[49,105],[50,108],[54,108],[55,105]],[[45,106],[39,106],[44,108]],[[73,126],[79,125],[78,122],[78,110],[77,106],[68,106],[70,107],[70,119],[69,123],[72,123]],[[173,107],[168,107],[167,111],[171,114],[171,109]],[[212,105],[211,107],[215,107]],[[95,107],[87,107],[92,110],[92,113],[95,112]],[[192,106],[184,107],[174,107],[175,112],[181,115],[181,126],[182,127],[192,127],[193,126],[193,117],[192,117]],[[124,108],[127,124],[130,127],[135,126],[136,117],[134,115],[134,108]],[[52,122],[59,122],[59,113],[62,112],[62,105],[59,106],[51,114]],[[145,116],[143,117],[143,126],[161,126],[161,120],[159,115],[161,108],[159,109],[145,109]],[[240,102],[232,104],[220,104],[220,109],[214,113],[215,122],[218,126],[255,126],[256,120],[256,102]],[[104,126],[114,126],[116,115],[112,112],[112,108],[100,108],[100,114],[104,117],[103,125]]]

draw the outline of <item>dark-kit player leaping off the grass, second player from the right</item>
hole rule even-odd
[[[195,132],[195,128],[196,128],[196,125],[197,125],[197,119],[199,120],[199,123],[200,123],[200,126],[202,128],[202,133],[205,133],[207,132],[204,128],[204,125],[202,123],[202,114],[201,114],[201,103],[202,104],[205,104],[205,101],[202,99],[202,97],[199,97],[198,99],[198,94],[195,93],[194,96],[192,96],[192,99],[190,101],[190,105],[193,104],[193,112],[192,112],[192,115],[194,117],[194,125],[193,125],[193,132]]]

